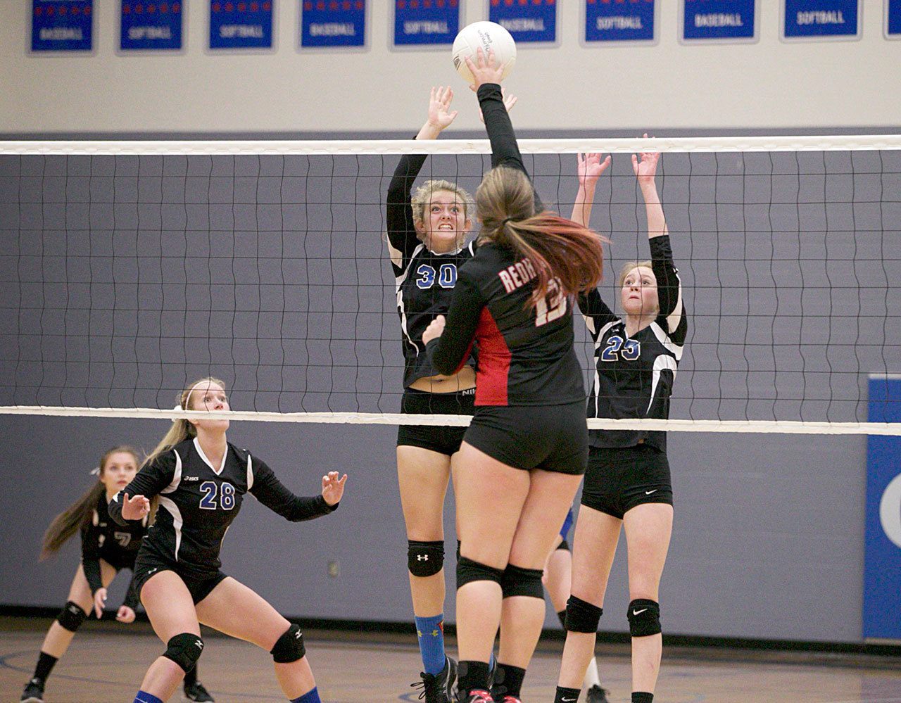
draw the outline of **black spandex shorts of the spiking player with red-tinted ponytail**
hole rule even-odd
[[[514,469],[585,473],[585,402],[560,406],[478,406],[464,439]]]

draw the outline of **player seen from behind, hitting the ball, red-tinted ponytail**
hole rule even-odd
[[[459,271],[445,321],[423,333],[451,374],[478,343],[475,414],[453,458],[460,530],[458,692],[517,703],[544,623],[542,567],[587,463],[585,388],[570,297],[601,278],[596,233],[545,212],[523,166],[493,53],[468,60],[491,142],[476,193],[478,249]],[[503,691],[488,689],[500,625]]]

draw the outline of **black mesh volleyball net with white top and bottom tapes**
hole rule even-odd
[[[901,434],[868,423],[871,375],[901,373],[901,136],[522,140],[569,216],[577,152],[612,154],[591,225],[601,293],[648,258],[630,155],[657,187],[689,331],[669,422],[705,432]],[[466,424],[399,415],[403,355],[387,187],[474,193],[487,141],[0,142],[0,413],[172,417],[224,379],[232,419]],[[478,225],[474,228],[478,230]],[[590,338],[577,351],[593,375]],[[187,415],[185,413],[184,415]]]

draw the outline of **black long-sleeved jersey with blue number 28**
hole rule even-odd
[[[122,496],[159,496],[156,522],[141,544],[160,558],[176,562],[187,574],[203,579],[219,570],[219,551],[232,521],[250,493],[278,515],[299,522],[331,513],[322,495],[295,496],[269,467],[229,443],[221,466],[214,467],[196,438],[161,453],[138,471],[109,504],[120,525]]]

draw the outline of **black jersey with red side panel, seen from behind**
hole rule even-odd
[[[479,87],[478,100],[492,166],[526,173],[500,86]],[[535,212],[542,209],[536,194]],[[538,306],[530,305],[535,278],[529,260],[493,242],[480,243],[460,267],[444,333],[428,351],[434,368],[451,374],[475,342],[477,406],[558,405],[586,397],[573,350],[572,301],[552,286]]]

